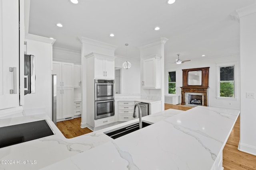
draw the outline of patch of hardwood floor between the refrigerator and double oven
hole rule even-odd
[[[92,132],[89,128],[81,128],[81,117],[57,122],[57,127],[66,138],[78,137]]]

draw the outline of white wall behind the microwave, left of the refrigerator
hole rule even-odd
[[[35,114],[45,112],[51,117],[51,55],[54,40],[30,34],[29,39],[25,37],[25,41],[27,41],[27,54],[35,56],[36,65],[36,93],[25,95],[23,106],[25,113],[33,109]]]

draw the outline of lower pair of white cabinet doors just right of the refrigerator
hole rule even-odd
[[[74,88],[57,88],[57,121],[58,119],[71,118],[73,116]]]

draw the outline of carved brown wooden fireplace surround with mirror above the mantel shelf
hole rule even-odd
[[[200,106],[208,106],[207,95],[208,95],[208,82],[209,82],[209,68],[191,68],[191,69],[183,69],[183,83],[181,88],[181,105],[200,105]],[[190,73],[199,73],[197,75],[200,77],[198,80],[189,79]],[[200,81],[199,81],[200,80]],[[195,85],[189,85],[190,82],[197,82]],[[194,95],[196,97],[189,98],[188,95]],[[201,99],[201,102],[199,100]],[[191,104],[191,100],[194,100],[194,104]]]

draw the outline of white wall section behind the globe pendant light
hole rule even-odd
[[[122,94],[140,94],[140,60],[128,59],[131,63],[129,69],[124,69],[122,64],[127,59],[117,57],[115,67],[121,68],[121,92]]]

